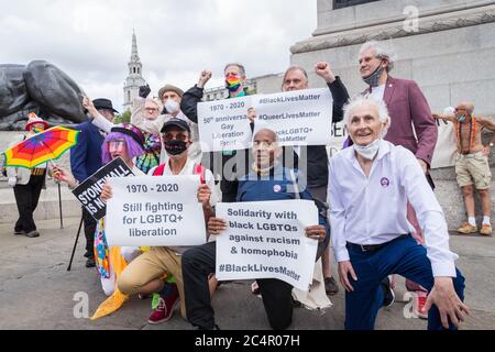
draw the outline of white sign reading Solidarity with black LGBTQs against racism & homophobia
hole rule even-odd
[[[315,202],[218,204],[217,217],[228,223],[217,238],[218,279],[278,278],[308,290],[318,242],[305,229],[318,224]]]

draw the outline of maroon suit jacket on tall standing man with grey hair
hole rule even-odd
[[[388,77],[384,101],[392,120],[385,140],[395,145],[407,147],[417,158],[431,165],[438,139],[438,128],[431,116],[428,101],[418,85],[414,80]]]

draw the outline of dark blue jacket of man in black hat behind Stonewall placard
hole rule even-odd
[[[105,138],[91,121],[77,128],[80,133],[77,144],[70,150],[70,169],[74,177],[81,183],[101,166],[101,145]]]

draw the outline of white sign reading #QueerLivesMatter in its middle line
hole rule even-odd
[[[254,99],[255,98],[255,99]],[[328,88],[255,96],[254,134],[274,130],[280,145],[327,145],[331,141],[333,98]]]

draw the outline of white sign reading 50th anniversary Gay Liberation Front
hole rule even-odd
[[[202,144],[210,152],[249,147],[252,140],[248,109],[252,97],[198,103],[198,125]]]

